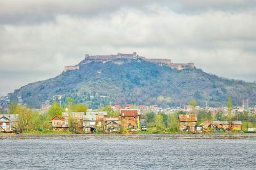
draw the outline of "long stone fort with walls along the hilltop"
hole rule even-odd
[[[146,57],[142,57],[140,55],[137,55],[136,52],[133,53],[117,53],[117,54],[111,54],[111,55],[85,55],[85,58],[83,61],[81,61],[79,64],[75,66],[65,66],[64,71],[68,70],[75,70],[79,69],[81,65],[89,64],[90,62],[113,62],[114,64],[124,64],[125,62],[129,62],[131,60],[145,60],[148,62],[154,62],[158,64],[159,66],[169,66],[172,69],[193,69],[194,63],[172,63],[172,60],[170,59],[147,59]]]

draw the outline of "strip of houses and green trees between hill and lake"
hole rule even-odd
[[[207,133],[256,132],[256,107],[248,101],[232,107],[228,98],[225,107],[196,106],[192,100],[183,108],[160,108],[157,105],[108,105],[92,110],[68,97],[61,105],[61,96],[40,109],[1,98],[0,131],[5,133]]]

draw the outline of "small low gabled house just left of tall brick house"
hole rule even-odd
[[[118,132],[120,131],[120,117],[105,117],[104,132]]]

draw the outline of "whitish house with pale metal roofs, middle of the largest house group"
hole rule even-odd
[[[90,111],[83,116],[83,131],[103,131],[103,121],[108,115],[107,111]]]

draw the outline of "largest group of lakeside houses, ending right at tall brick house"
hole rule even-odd
[[[121,129],[140,129],[140,110],[121,109],[120,115],[109,117],[107,111],[63,112],[62,117],[55,116],[51,120],[52,130],[70,131],[75,127],[76,131],[86,133],[120,132]]]

